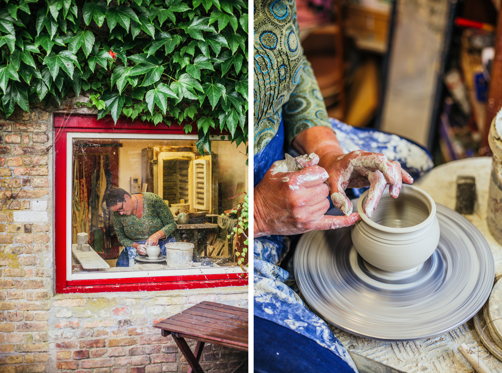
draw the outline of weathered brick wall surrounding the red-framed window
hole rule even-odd
[[[247,308],[247,287],[55,294],[52,123],[36,109],[0,118],[0,373],[186,372],[152,325],[204,300]],[[206,345],[201,365],[231,372],[245,359]]]

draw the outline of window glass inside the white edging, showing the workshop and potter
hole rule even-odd
[[[218,215],[243,200],[245,146],[211,146],[203,156],[194,140],[74,138],[72,272],[167,270],[170,242],[194,245],[185,267],[232,265],[236,217]],[[138,247],[153,237],[158,259]]]

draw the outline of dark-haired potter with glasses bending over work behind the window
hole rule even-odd
[[[172,233],[176,223],[162,198],[148,192],[131,195],[121,188],[110,188],[104,200],[113,212],[118,241],[124,246],[117,267],[135,265],[137,254],[147,254],[147,246],[158,245],[160,255],[166,254],[166,243],[175,241]]]

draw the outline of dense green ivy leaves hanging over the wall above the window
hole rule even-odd
[[[247,2],[4,0],[0,110],[48,105],[73,90],[110,114],[247,141]],[[196,126],[194,128],[194,126]]]

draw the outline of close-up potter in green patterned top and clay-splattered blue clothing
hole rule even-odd
[[[290,372],[311,371],[312,358],[352,371],[345,348],[294,292],[292,272],[278,266],[288,235],[348,227],[359,213],[371,217],[387,185],[399,199],[403,182],[412,183],[432,161],[398,136],[328,118],[303,55],[294,1],[257,1],[254,17],[255,369],[282,372],[287,360]],[[284,159],[285,152],[294,157]],[[363,212],[353,212],[350,198],[367,186]],[[326,215],[331,203],[343,215]],[[308,359],[299,358],[305,350]]]

